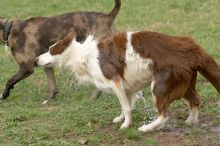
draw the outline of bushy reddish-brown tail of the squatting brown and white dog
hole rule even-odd
[[[198,70],[220,94],[220,66],[208,54],[202,57],[201,68]]]

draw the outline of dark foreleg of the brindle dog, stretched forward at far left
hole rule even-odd
[[[32,64],[22,64],[19,67],[19,71],[8,80],[5,90],[3,94],[1,95],[2,99],[6,99],[10,95],[10,90],[14,88],[14,85],[18,83],[19,81],[27,78],[34,72],[34,65]]]

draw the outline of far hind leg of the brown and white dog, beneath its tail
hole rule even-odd
[[[200,97],[196,92],[196,78],[197,72],[194,72],[190,86],[184,95],[184,102],[189,107],[189,117],[186,120],[186,124],[189,125],[198,123],[198,108],[200,106]]]

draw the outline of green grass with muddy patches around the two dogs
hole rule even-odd
[[[1,0],[0,15],[8,19],[51,16],[70,11],[109,12],[113,0]],[[220,63],[220,1],[218,0],[123,0],[115,25],[119,30],[163,32],[192,36]],[[0,48],[0,91],[18,67],[9,53]],[[0,101],[0,145],[220,145],[219,94],[204,78],[197,89],[202,96],[200,124],[187,126],[187,108],[180,101],[172,104],[171,120],[160,131],[139,133],[146,116],[142,101],[133,113],[130,129],[119,130],[112,119],[120,113],[117,98],[103,94],[89,96],[93,87],[78,87],[70,73],[56,70],[59,94],[47,106],[46,76],[41,68],[15,86],[11,96]],[[153,109],[149,89],[146,91]],[[152,112],[151,115],[155,113]]]

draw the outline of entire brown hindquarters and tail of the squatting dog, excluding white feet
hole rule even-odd
[[[152,94],[160,114],[166,115],[168,106],[184,96],[191,107],[200,105],[196,71],[220,91],[219,66],[192,38],[143,31],[134,33],[131,39],[136,53],[153,60]]]

